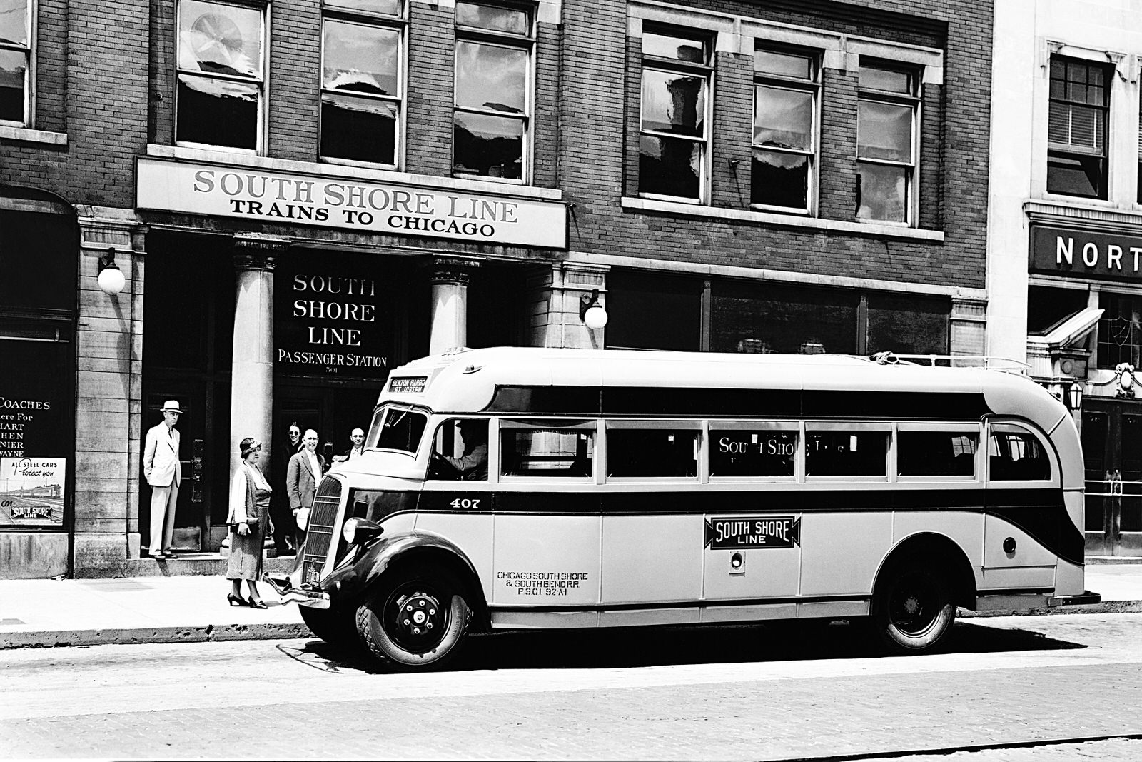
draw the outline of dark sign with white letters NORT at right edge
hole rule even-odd
[[[1036,226],[1030,271],[1142,282],[1142,236]]]

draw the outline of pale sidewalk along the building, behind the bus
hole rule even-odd
[[[1142,611],[1142,563],[1088,559],[1083,611]],[[265,610],[226,603],[222,576],[0,580],[0,649],[307,637],[296,603],[259,584]],[[242,586],[243,593],[246,585]],[[1073,610],[1073,609],[1072,609]],[[1036,611],[1042,613],[1044,611]]]

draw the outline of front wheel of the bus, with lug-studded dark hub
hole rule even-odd
[[[464,587],[451,573],[410,567],[386,575],[379,594],[357,608],[356,626],[380,661],[425,669],[455,655],[471,615]]]

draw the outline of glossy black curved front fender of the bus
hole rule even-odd
[[[457,577],[468,583],[469,601],[476,611],[486,611],[480,575],[467,554],[456,544],[432,532],[410,531],[394,536],[380,536],[364,548],[348,564],[332,571],[324,580],[324,587],[335,602],[346,601],[354,605],[363,602],[384,573],[400,561],[413,558],[432,558],[447,564]]]

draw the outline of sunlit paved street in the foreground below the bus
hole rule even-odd
[[[1142,615],[975,620],[907,658],[827,629],[496,635],[419,675],[307,640],[6,651],[0,756],[799,759],[1142,733]],[[1062,748],[938,759],[1142,741]]]

